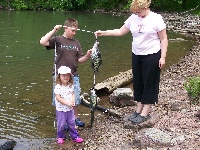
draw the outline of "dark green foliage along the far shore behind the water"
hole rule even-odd
[[[102,9],[106,11],[129,10],[132,0],[1,0],[0,6],[15,10],[65,10],[84,11]],[[199,0],[152,0],[153,11],[184,12],[200,14]],[[196,8],[193,10],[193,8]]]

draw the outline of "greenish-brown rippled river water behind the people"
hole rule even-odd
[[[84,54],[95,42],[92,32],[119,28],[127,19],[123,15],[93,12],[0,11],[0,145],[9,139],[17,141],[15,149],[19,150],[52,146],[49,141],[56,145],[55,108],[51,106],[54,51],[45,50],[39,40],[69,17],[79,21],[81,30],[90,31],[80,30],[76,35]],[[168,37],[186,39],[174,33],[168,33]],[[103,65],[96,83],[131,68],[131,34],[98,40]],[[169,42],[167,66],[176,63],[194,45],[191,39],[186,40]],[[78,70],[82,92],[89,92],[93,86],[91,61],[80,64]],[[108,99],[101,103],[106,107]],[[89,109],[81,105],[79,113],[89,124]]]

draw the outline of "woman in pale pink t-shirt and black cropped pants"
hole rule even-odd
[[[133,0],[133,13],[120,29],[96,31],[97,36],[123,36],[132,33],[132,73],[137,109],[130,115],[133,124],[150,119],[150,108],[158,102],[160,69],[167,53],[166,24],[150,10],[151,0]]]

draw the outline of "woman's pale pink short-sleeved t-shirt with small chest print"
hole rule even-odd
[[[150,12],[148,16],[141,18],[132,14],[125,21],[125,26],[132,33],[132,52],[135,55],[148,55],[160,50],[158,32],[166,28],[161,15]]]

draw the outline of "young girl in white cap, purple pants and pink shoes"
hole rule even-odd
[[[54,92],[56,95],[58,144],[64,143],[64,127],[66,123],[72,140],[77,143],[83,142],[83,139],[79,137],[75,128],[75,116],[73,110],[73,106],[75,106],[75,95],[71,69],[69,67],[61,66],[58,69]]]

